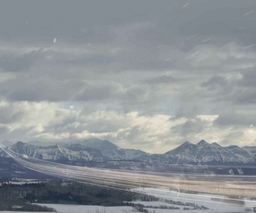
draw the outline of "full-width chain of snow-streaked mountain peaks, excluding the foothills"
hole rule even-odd
[[[197,144],[189,141],[165,154],[148,154],[144,151],[123,149],[107,140],[97,138],[56,145],[31,145],[18,141],[9,150],[20,156],[47,161],[136,161],[148,164],[251,164],[256,163],[254,147],[237,145],[222,147],[204,140]],[[1,151],[1,157],[7,157]]]

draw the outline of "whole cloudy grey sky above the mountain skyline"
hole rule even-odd
[[[256,1],[0,7],[1,141],[256,145]]]

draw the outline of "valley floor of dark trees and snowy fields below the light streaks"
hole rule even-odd
[[[20,180],[17,183],[13,181],[2,183],[0,187],[0,194],[2,195],[0,205],[3,204],[3,199],[8,200],[8,196],[11,199],[16,195],[16,199],[18,199],[17,196],[22,196],[24,203],[26,201],[37,202],[35,203],[37,206],[46,206],[61,213],[210,213],[248,211],[252,213],[256,207],[255,197],[222,196],[202,192],[185,193],[180,191],[179,186],[176,188],[174,186],[171,186],[171,188],[166,186],[155,188],[136,187],[130,189],[130,192],[122,192],[117,189],[105,189],[104,187],[67,180],[46,182]],[[78,205],[79,203],[80,205]],[[15,204],[13,202],[11,205],[16,206],[18,203]],[[34,212],[34,209],[30,210],[30,212]],[[17,209],[20,211],[14,210],[0,211],[0,213],[21,212],[21,209]],[[24,209],[22,212],[26,211]]]

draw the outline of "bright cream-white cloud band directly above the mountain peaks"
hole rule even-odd
[[[218,116],[200,115],[194,119],[175,118],[137,112],[70,110],[56,103],[15,102],[0,105],[0,112],[8,106],[9,115],[21,113],[19,119],[2,122],[2,141],[72,141],[83,138],[101,138],[114,141],[122,148],[163,153],[185,139],[189,141],[218,141],[222,145],[236,143],[252,145],[256,128],[248,125],[242,129],[216,126]]]

